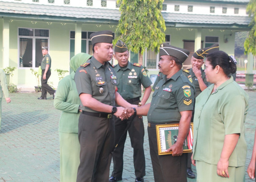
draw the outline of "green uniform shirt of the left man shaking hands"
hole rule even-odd
[[[103,104],[115,105],[115,92],[117,90],[117,77],[114,68],[109,62],[102,65],[94,56],[76,70],[75,83],[78,95],[90,94]],[[81,104],[82,106],[82,104]],[[96,112],[89,107],[82,110]]]

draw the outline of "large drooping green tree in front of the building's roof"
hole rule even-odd
[[[139,52],[139,63],[142,64],[143,52],[146,49],[159,50],[165,42],[165,20],[161,11],[163,0],[117,0],[121,17],[116,28],[117,40],[125,42],[134,53]]]

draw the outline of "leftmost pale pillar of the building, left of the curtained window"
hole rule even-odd
[[[9,19],[3,19],[3,68],[9,66]]]

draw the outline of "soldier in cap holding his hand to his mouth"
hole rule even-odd
[[[189,70],[183,70],[183,74],[187,76],[189,81],[195,87],[195,98],[208,87],[208,82],[206,81],[205,72],[202,69],[204,64],[204,58],[210,53],[219,50],[219,44],[213,44],[210,47],[206,47],[203,49],[197,50],[193,56],[191,57],[191,65],[192,68]],[[194,112],[193,112],[194,113]],[[191,122],[193,122],[193,115],[191,118]],[[188,153],[188,166],[187,166],[187,177],[195,178],[195,174],[191,169],[191,153]]]

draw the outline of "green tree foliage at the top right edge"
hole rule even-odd
[[[250,17],[252,16],[249,24],[252,29],[249,31],[249,35],[244,42],[245,54],[251,52],[253,55],[256,55],[256,0],[250,0],[246,7],[246,12]]]

